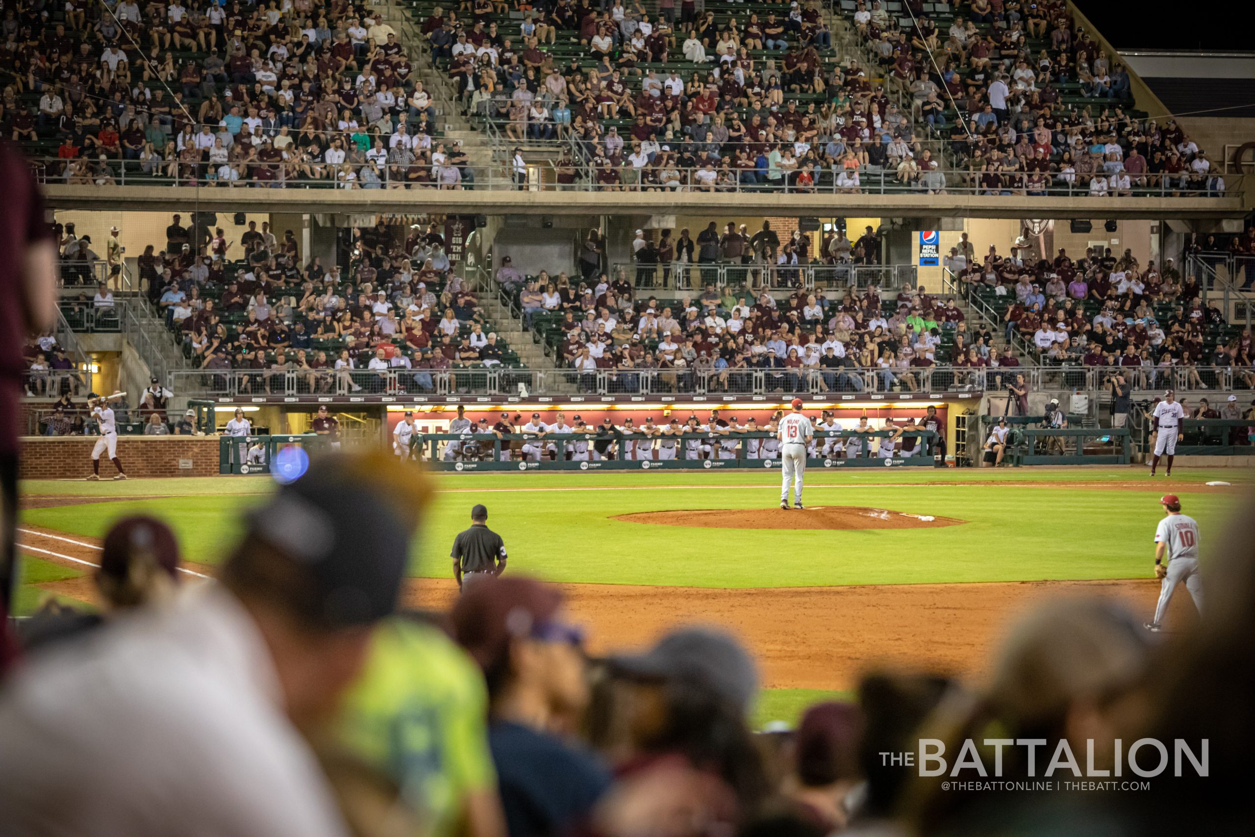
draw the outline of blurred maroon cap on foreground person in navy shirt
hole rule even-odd
[[[453,636],[479,665],[499,659],[511,639],[579,642],[580,632],[553,616],[562,594],[552,585],[520,576],[487,578],[471,586],[453,607]]]

